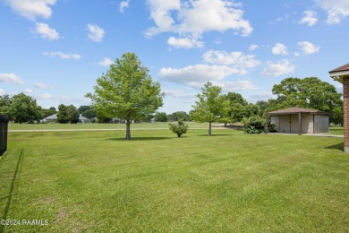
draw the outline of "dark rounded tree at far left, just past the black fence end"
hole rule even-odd
[[[42,108],[38,106],[37,100],[23,93],[13,96],[8,111],[14,123],[38,122],[43,117]]]

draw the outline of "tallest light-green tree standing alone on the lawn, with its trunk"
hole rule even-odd
[[[126,121],[126,140],[131,139],[132,120],[149,119],[163,105],[160,84],[134,53],[125,53],[97,79],[92,99],[98,111]]]

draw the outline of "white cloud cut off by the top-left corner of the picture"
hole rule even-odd
[[[10,5],[14,13],[34,21],[37,17],[44,19],[51,17],[50,6],[55,5],[56,0],[4,0],[4,2]]]

